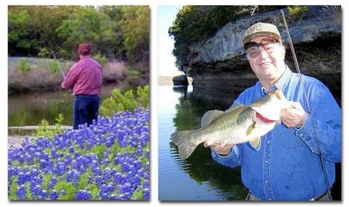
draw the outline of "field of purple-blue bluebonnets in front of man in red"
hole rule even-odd
[[[8,199],[149,200],[149,168],[148,103],[9,148]]]

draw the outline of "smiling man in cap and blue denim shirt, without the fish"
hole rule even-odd
[[[335,162],[341,162],[341,109],[318,79],[291,72],[274,24],[258,22],[246,30],[242,45],[259,81],[234,104],[249,105],[281,89],[290,109],[282,124],[262,136],[260,150],[250,144],[212,144],[212,157],[228,167],[241,166],[248,201],[331,200]],[[304,95],[304,93],[306,93]],[[306,98],[305,98],[306,97]],[[309,105],[308,105],[309,102]],[[309,110],[304,110],[307,108]]]

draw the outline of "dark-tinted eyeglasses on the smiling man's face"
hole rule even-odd
[[[264,42],[264,43],[263,43]],[[255,59],[260,54],[260,47],[263,47],[267,54],[272,54],[276,47],[279,47],[280,43],[274,39],[265,38],[262,39],[260,43],[248,42],[244,44],[244,49],[246,53],[251,58]]]

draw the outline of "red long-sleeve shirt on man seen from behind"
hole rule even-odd
[[[74,95],[99,95],[101,94],[102,82],[102,66],[90,56],[82,56],[80,61],[70,68],[61,87],[72,89]]]

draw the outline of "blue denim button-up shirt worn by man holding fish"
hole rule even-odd
[[[309,97],[311,117],[307,113],[301,128],[286,128],[282,123],[261,137],[260,151],[250,144],[237,144],[228,156],[212,151],[217,162],[229,167],[241,166],[242,182],[252,194],[263,200],[309,200],[327,191],[318,155],[318,141],[325,160],[330,185],[335,180],[334,162],[341,162],[341,108],[329,89],[318,79],[302,75]],[[288,68],[272,90],[282,88],[287,100],[300,102],[307,112],[299,75]],[[248,105],[267,94],[260,82],[246,89],[234,103]],[[313,124],[311,123],[311,118]]]

